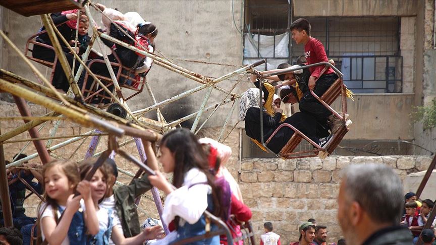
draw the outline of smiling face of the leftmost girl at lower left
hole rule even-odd
[[[56,165],[45,171],[44,187],[48,197],[61,200],[73,193],[74,185],[68,180],[61,166]]]

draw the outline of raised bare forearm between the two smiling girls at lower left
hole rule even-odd
[[[86,228],[88,228],[88,232],[91,235],[96,235],[99,231],[97,210],[95,209],[94,201],[92,201],[90,190],[91,187],[89,185],[89,181],[87,180],[82,180],[77,185],[77,191],[83,197],[83,201],[86,207],[84,213]]]

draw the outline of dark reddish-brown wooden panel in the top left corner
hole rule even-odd
[[[82,8],[74,0],[0,0],[0,5],[26,17]]]

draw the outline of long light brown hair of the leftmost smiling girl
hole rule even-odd
[[[45,173],[50,170],[53,167],[60,166],[62,171],[64,171],[64,174],[67,176],[68,181],[73,184],[73,191],[76,190],[76,186],[80,181],[80,175],[79,171],[77,169],[77,165],[73,161],[65,161],[65,160],[54,160],[51,161],[45,165],[42,166],[42,178],[45,178]],[[45,186],[44,186],[45,189]],[[45,200],[45,202],[44,202]],[[45,204],[45,205],[44,205]],[[43,210],[40,210],[42,206],[44,205]],[[44,193],[44,198],[41,200],[41,202],[38,204],[38,208],[36,209],[38,211],[37,214],[37,221],[36,225],[37,227],[40,227],[39,223],[41,221],[40,217],[41,214],[45,211],[45,209],[51,206],[51,208],[57,212],[58,210],[58,202],[55,199],[50,198],[47,193]],[[57,221],[58,222],[58,221]],[[38,229],[38,240],[41,238],[41,229]]]

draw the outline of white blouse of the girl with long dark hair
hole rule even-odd
[[[207,208],[207,194],[212,188],[207,184],[206,175],[198,168],[191,168],[186,172],[183,185],[167,196],[163,207],[162,220],[169,224],[176,216],[180,216],[189,224],[195,224]],[[189,188],[190,187],[190,188]]]

